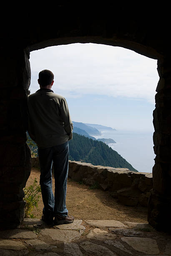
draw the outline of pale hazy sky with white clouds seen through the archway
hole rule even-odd
[[[73,121],[118,130],[153,131],[157,61],[101,44],[52,46],[30,53],[31,93],[38,73],[54,73],[52,90],[68,102]]]

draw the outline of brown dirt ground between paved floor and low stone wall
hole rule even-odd
[[[33,184],[34,179],[40,179],[40,170],[32,169],[26,187]],[[54,177],[53,177],[54,192]],[[67,182],[66,206],[68,214],[75,219],[83,220],[118,220],[131,222],[147,222],[147,209],[145,207],[131,207],[121,205],[109,192],[101,189],[90,189],[85,184],[79,184],[71,179]],[[43,201],[40,197],[38,209],[33,210],[34,218],[41,218]]]

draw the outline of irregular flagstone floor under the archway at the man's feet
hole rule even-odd
[[[171,236],[147,223],[74,220],[50,227],[25,219],[20,228],[0,231],[0,256],[171,256]]]

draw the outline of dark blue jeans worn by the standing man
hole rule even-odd
[[[40,163],[40,187],[43,214],[67,216],[66,188],[68,177],[68,142],[50,148],[38,148]],[[55,198],[52,191],[52,163],[55,178]]]

